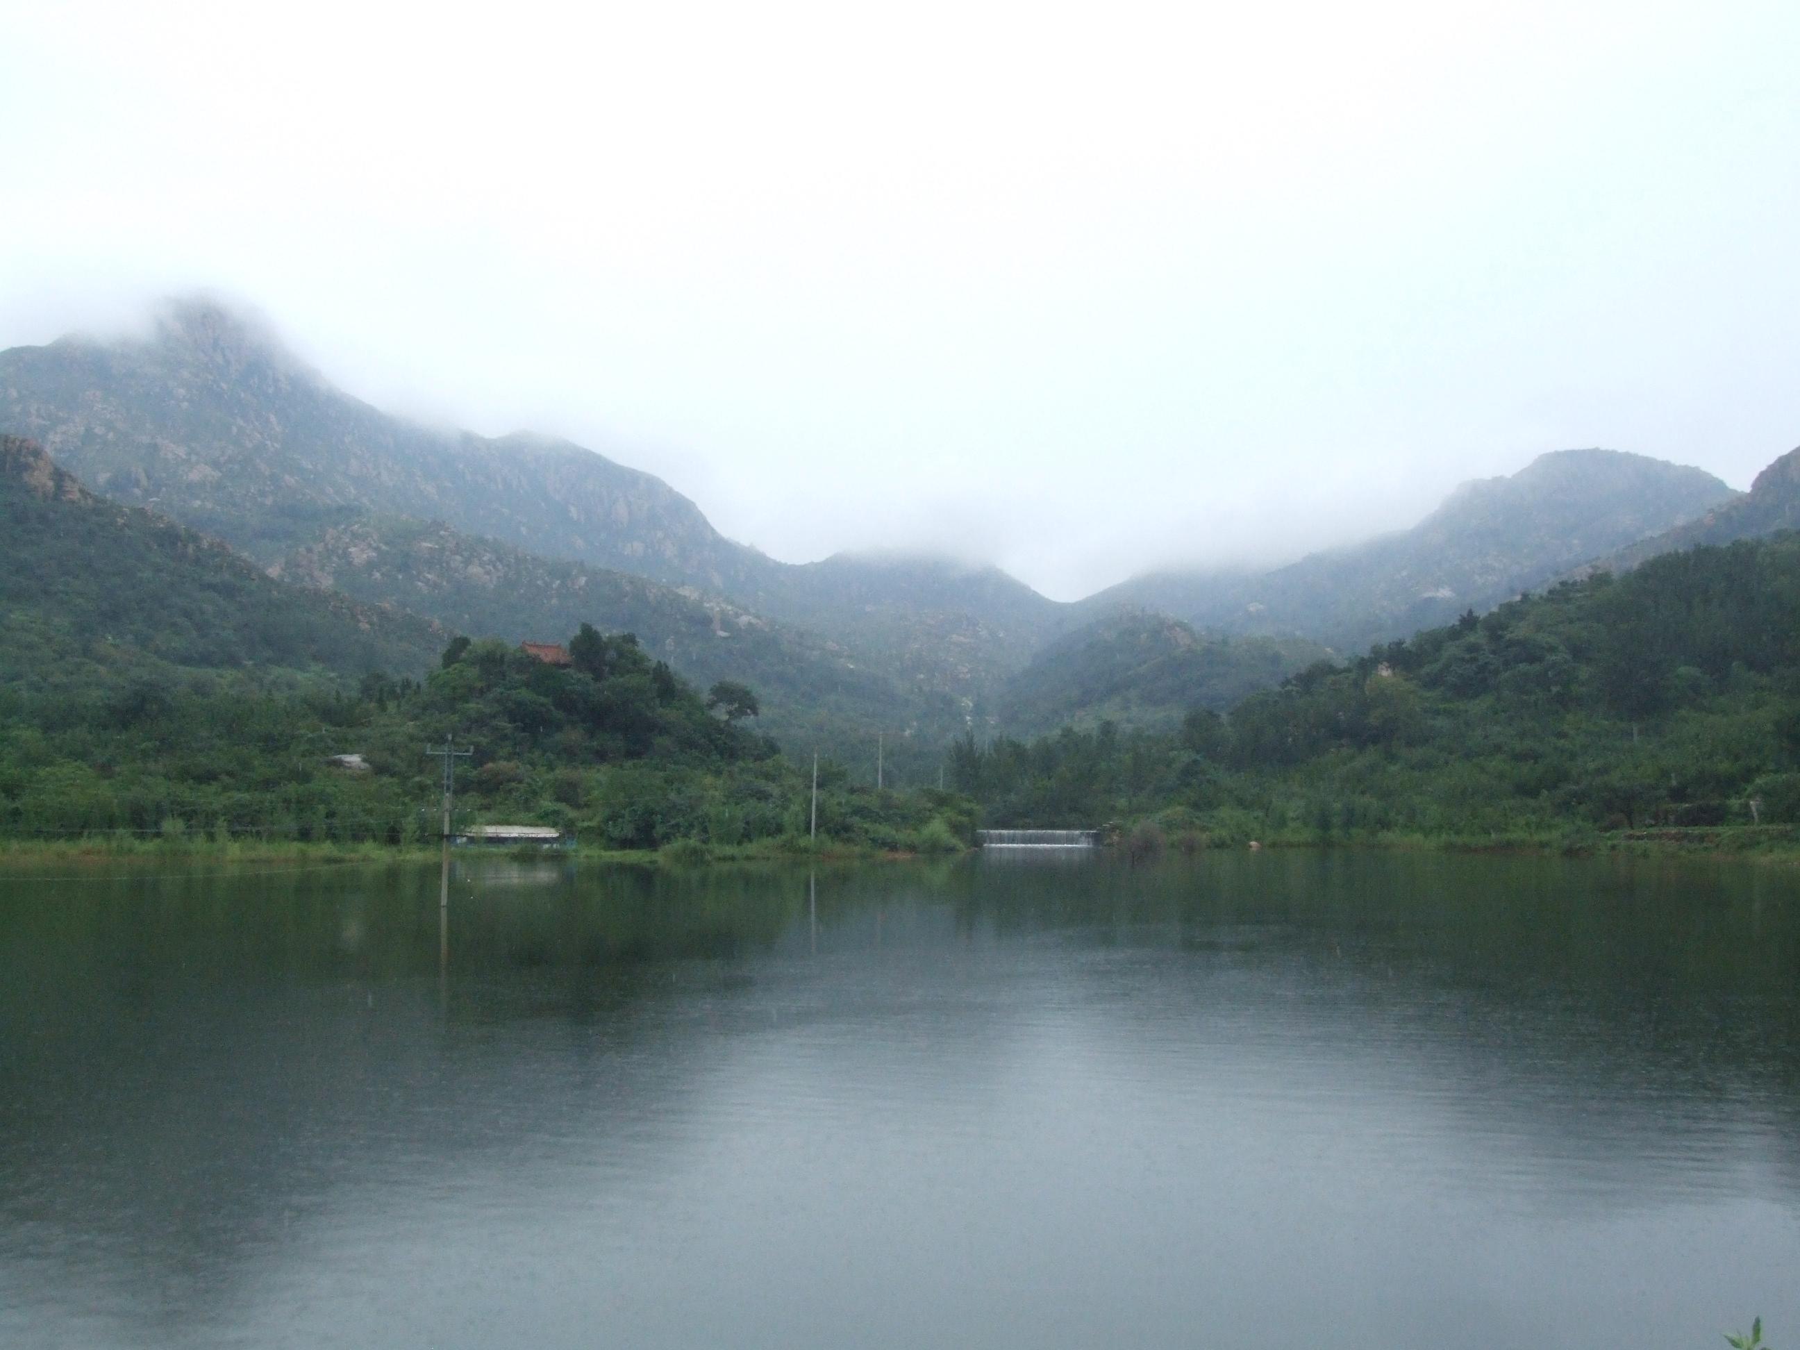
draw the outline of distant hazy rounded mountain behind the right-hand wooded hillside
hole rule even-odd
[[[1085,603],[1154,603],[1208,628],[1300,634],[1355,650],[1490,608],[1732,497],[1697,468],[1557,450],[1512,477],[1465,482],[1397,535],[1260,576],[1152,574]]]

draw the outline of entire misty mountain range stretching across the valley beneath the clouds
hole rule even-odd
[[[569,441],[383,414],[211,302],[169,306],[144,340],[0,353],[0,432],[275,581],[509,639],[581,621],[637,632],[689,677],[754,684],[779,738],[826,745],[1229,707],[1330,652],[1584,567],[1800,524],[1800,452],[1733,493],[1696,468],[1562,450],[1366,544],[1058,603],[938,558],[781,563],[661,479]],[[416,657],[409,641],[396,666]]]

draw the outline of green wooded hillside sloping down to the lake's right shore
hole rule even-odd
[[[1174,733],[968,738],[950,765],[999,826],[1543,839],[1800,821],[1800,536],[1562,583]]]

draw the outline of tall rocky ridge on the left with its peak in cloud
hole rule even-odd
[[[391,418],[207,302],[169,306],[144,342],[0,353],[0,425],[97,491],[263,562],[373,511],[713,590],[756,589],[772,565],[650,473],[567,441]]]

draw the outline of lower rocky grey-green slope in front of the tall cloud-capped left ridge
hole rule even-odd
[[[461,632],[511,641],[562,641],[580,625],[632,632],[702,689],[751,684],[760,727],[796,749],[828,747],[851,727],[950,734],[961,718],[947,698],[900,688],[844,648],[770,623],[716,598],[641,576],[538,558],[436,522],[364,518],[328,529],[272,569],[310,587],[400,605]]]

